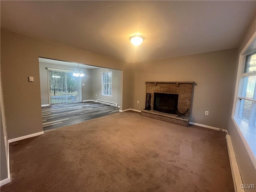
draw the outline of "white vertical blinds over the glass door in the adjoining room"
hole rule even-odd
[[[48,68],[50,105],[82,102],[81,78],[73,72]]]

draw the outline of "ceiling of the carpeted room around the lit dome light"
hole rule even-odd
[[[1,28],[140,62],[237,48],[256,1],[1,1]],[[146,39],[136,47],[129,37]]]

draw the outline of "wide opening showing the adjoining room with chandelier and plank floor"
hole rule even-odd
[[[39,58],[43,130],[119,112],[122,71]]]

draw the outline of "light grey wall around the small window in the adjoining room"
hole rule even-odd
[[[112,96],[102,95],[102,72],[112,72]],[[92,82],[92,100],[103,100],[120,105],[121,103],[121,71],[108,69],[108,68],[96,68],[91,69],[91,82]],[[97,95],[97,96],[96,96]]]

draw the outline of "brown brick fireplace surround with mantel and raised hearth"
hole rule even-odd
[[[181,113],[188,112],[185,114],[185,118],[177,118],[177,115],[174,114],[166,114],[163,112],[158,112],[154,110],[142,110],[142,115],[148,116],[151,118],[160,119],[163,121],[171,122],[174,124],[179,124],[182,126],[188,126],[190,110],[191,110],[191,102],[192,102],[192,93],[194,88],[193,81],[146,81],[146,93],[151,94],[151,109],[153,109],[154,104],[154,92],[157,93],[172,93],[179,94],[178,98],[178,110]]]

